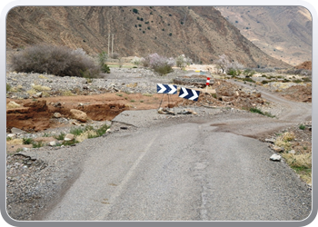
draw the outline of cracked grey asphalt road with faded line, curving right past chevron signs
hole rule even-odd
[[[288,113],[302,112],[297,106]],[[84,141],[76,149],[94,143],[94,150],[44,220],[301,221],[311,212],[311,191],[251,137],[304,120],[310,110],[283,119],[242,113],[170,119]]]

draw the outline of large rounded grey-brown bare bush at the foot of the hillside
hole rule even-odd
[[[66,46],[38,44],[25,48],[11,58],[18,73],[55,74],[59,76],[96,76],[100,73],[87,55]]]

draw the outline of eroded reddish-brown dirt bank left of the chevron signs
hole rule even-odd
[[[120,95],[120,96],[119,96]],[[96,94],[77,96],[45,97],[36,100],[7,99],[6,104],[15,102],[20,107],[9,108],[6,111],[6,131],[12,127],[26,132],[37,132],[48,128],[61,126],[55,121],[55,113],[61,117],[71,118],[71,109],[77,109],[87,114],[94,121],[112,120],[124,110],[145,110],[158,108],[162,95],[152,94]],[[181,102],[180,98],[172,96],[169,101],[164,98],[162,106],[168,102],[173,106]]]

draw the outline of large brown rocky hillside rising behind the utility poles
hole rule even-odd
[[[96,54],[113,46],[120,56],[185,54],[213,64],[227,54],[246,66],[290,66],[264,54],[212,6],[18,6],[6,29],[8,49],[46,43]]]

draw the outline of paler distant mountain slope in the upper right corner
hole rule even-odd
[[[264,53],[288,64],[312,61],[313,19],[303,6],[216,6]]]

